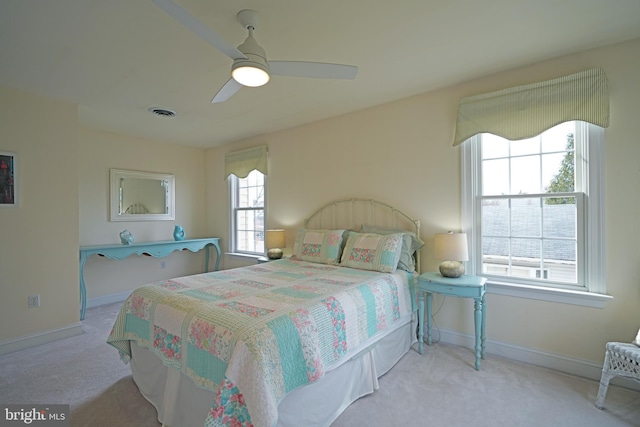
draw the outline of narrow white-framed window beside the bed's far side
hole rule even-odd
[[[231,252],[264,255],[266,175],[253,170],[246,178],[229,175]]]

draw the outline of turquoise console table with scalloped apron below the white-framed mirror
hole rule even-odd
[[[218,271],[220,267],[220,238],[211,237],[207,239],[188,239],[188,240],[167,240],[161,242],[141,242],[132,243],[130,245],[98,245],[98,246],[80,246],[80,320],[84,320],[87,309],[87,290],[84,284],[84,264],[91,255],[102,255],[109,259],[125,259],[130,255],[150,255],[155,258],[164,258],[173,251],[181,251],[184,249],[191,252],[198,252],[204,248],[205,250],[205,273],[209,271],[209,247],[216,248],[216,265],[213,271]]]

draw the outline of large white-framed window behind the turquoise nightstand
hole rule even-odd
[[[463,145],[470,274],[490,283],[605,293],[603,134],[581,121]]]

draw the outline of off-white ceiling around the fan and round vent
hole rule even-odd
[[[0,84],[77,103],[84,127],[211,147],[640,37],[638,0],[175,1],[234,46],[255,9],[269,59],[358,76],[274,76],[211,104],[231,59],[150,0],[0,0]]]

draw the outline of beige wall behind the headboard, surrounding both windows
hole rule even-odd
[[[210,149],[208,224],[228,242],[224,153],[269,146],[267,227],[284,227],[291,248],[303,218],[325,202],[372,197],[422,222],[423,270],[434,270],[433,234],[460,228],[460,149],[452,148],[457,103],[463,96],[601,67],[611,90],[606,130],[607,290],[604,309],[491,294],[488,339],[536,352],[600,363],[607,341],[629,341],[640,327],[640,40],[499,73],[444,90]],[[227,256],[225,267],[246,264]],[[439,297],[440,298],[440,297]],[[436,306],[441,299],[436,299]],[[473,332],[470,300],[448,298],[440,328]]]

